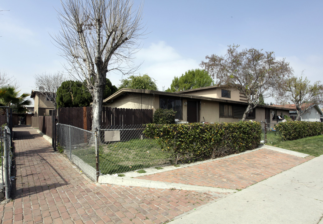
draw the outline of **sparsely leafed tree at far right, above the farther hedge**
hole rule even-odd
[[[304,71],[299,78],[292,76],[282,80],[275,97],[282,104],[287,101],[295,104],[297,110],[296,120],[299,120],[301,115],[313,105],[322,106],[323,104],[323,85],[320,84],[320,81],[311,85],[307,77],[303,79],[303,73]]]

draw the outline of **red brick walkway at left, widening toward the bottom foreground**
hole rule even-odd
[[[96,185],[35,128],[14,128],[16,186],[0,223],[163,223],[220,195]]]

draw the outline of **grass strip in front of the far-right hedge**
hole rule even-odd
[[[267,145],[286,148],[316,157],[323,154],[323,135],[301,138],[292,141],[279,141],[278,136],[274,135],[273,133],[269,134],[271,135],[271,138],[268,140],[267,133]]]

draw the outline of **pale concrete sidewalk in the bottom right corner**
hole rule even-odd
[[[323,155],[261,181],[171,224],[323,223]]]

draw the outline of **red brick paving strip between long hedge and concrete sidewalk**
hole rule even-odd
[[[170,183],[242,189],[314,158],[301,158],[270,149],[137,177]]]

